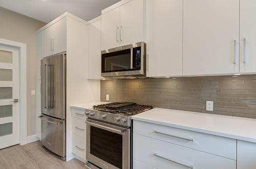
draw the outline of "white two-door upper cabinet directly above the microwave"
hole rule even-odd
[[[132,0],[102,13],[102,50],[144,41],[144,3]]]

